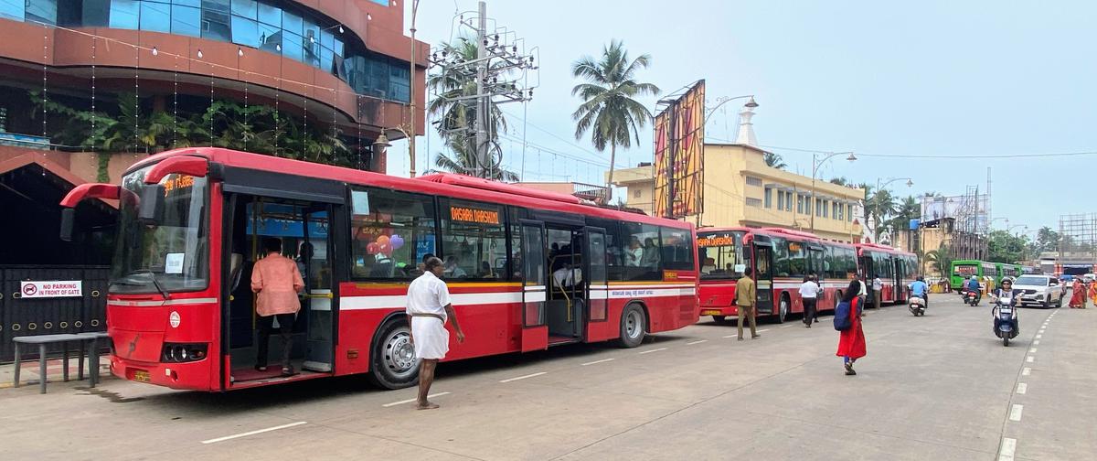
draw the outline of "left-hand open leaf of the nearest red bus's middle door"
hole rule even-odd
[[[521,222],[519,270],[522,272],[522,352],[548,348],[545,324],[546,263],[545,225],[540,221]]]

